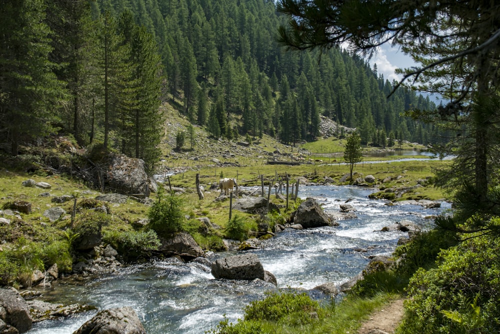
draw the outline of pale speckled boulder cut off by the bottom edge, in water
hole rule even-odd
[[[146,334],[146,330],[135,311],[125,306],[98,312],[73,334]]]

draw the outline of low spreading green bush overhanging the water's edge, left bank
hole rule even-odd
[[[110,243],[126,261],[147,258],[161,244],[153,230],[108,231],[104,233],[103,240]]]

